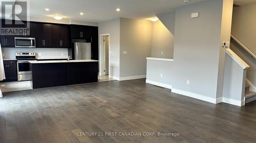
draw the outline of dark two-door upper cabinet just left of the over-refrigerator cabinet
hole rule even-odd
[[[69,47],[69,26],[52,24],[52,47]]]

